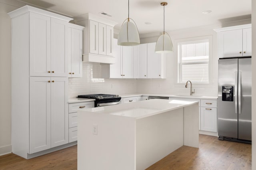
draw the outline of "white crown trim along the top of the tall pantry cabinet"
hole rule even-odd
[[[71,20],[73,20],[73,18],[70,18],[70,17],[67,17],[67,16],[62,16],[60,14],[56,14],[56,13],[53,13],[53,12],[49,12],[49,11],[46,11],[46,10],[35,8],[35,7],[29,6],[29,5],[22,6],[21,8],[18,8],[16,10],[12,11],[12,12],[9,12],[8,15],[11,18],[14,18],[14,17],[20,16],[20,15],[26,13],[26,12],[34,12],[34,13],[37,13],[37,14],[49,16],[51,18],[57,18],[59,20],[64,20],[66,22],[70,22]]]

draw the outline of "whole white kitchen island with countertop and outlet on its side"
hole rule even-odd
[[[78,110],[78,170],[144,170],[198,148],[198,102],[153,99]]]

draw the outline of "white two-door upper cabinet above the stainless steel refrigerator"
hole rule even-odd
[[[251,24],[246,24],[215,29],[218,32],[219,58],[251,56],[251,27]]]

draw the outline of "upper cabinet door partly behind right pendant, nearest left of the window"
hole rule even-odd
[[[155,53],[156,43],[148,43],[148,78],[161,78],[161,54]]]

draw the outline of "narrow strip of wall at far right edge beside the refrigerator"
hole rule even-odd
[[[256,1],[252,0],[252,87],[256,85]],[[256,89],[252,88],[252,170],[256,169]]]

